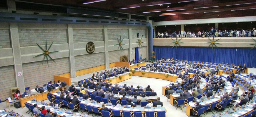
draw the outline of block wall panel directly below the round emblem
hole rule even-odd
[[[104,65],[104,52],[75,56],[76,70]]]

